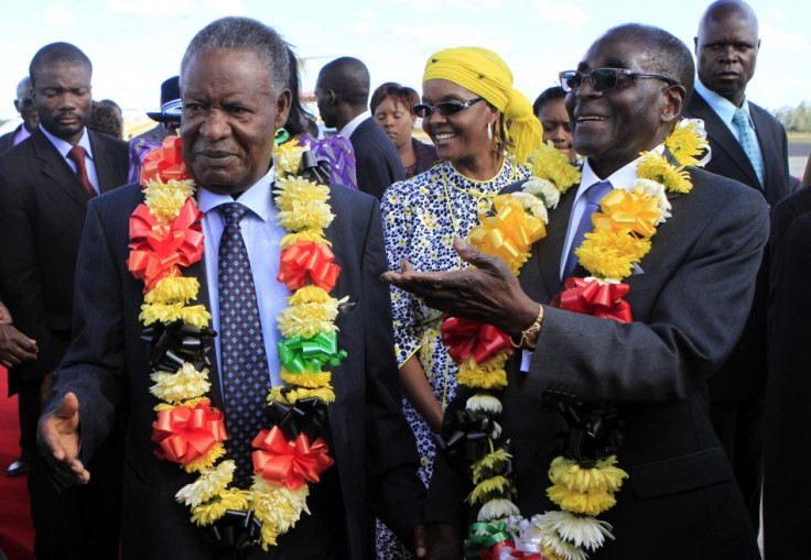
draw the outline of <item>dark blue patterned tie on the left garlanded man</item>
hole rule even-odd
[[[251,441],[267,425],[269,373],[253,274],[239,221],[249,211],[239,202],[217,207],[225,218],[219,240],[219,334],[223,358],[228,451],[237,461],[235,483],[251,482]]]

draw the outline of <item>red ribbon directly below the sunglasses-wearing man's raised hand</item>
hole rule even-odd
[[[442,343],[456,363],[473,355],[477,364],[483,364],[499,350],[512,348],[507,333],[493,325],[458,317],[447,317],[442,321]]]

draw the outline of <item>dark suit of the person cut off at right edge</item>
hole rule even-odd
[[[769,376],[764,413],[764,548],[766,558],[804,558],[811,487],[798,472],[811,462],[805,396],[811,395],[811,187],[772,212]]]

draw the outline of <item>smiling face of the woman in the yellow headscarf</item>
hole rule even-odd
[[[422,86],[422,102],[436,107],[442,101],[465,102],[476,99],[468,91],[446,79],[430,79]],[[498,111],[487,101],[473,103],[456,114],[443,117],[439,111],[422,119],[422,129],[431,136],[440,160],[464,163],[487,155],[494,149],[494,141],[487,138],[487,123],[498,125]]]

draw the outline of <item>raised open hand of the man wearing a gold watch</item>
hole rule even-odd
[[[493,325],[511,337],[532,325],[538,304],[523,293],[505,262],[476,251],[461,238],[454,239],[453,245],[475,268],[418,272],[403,260],[399,273],[386,272],[380,279],[423,298],[434,309]]]

